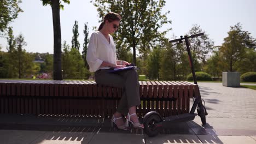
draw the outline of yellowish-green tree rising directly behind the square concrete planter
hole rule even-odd
[[[237,23],[231,26],[228,37],[224,38],[224,43],[220,46],[220,57],[224,64],[225,71],[234,71],[234,65],[245,58],[246,49],[255,49],[255,39],[247,31],[242,31],[242,26]]]

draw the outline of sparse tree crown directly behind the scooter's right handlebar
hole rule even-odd
[[[197,34],[197,33],[205,33],[200,37],[195,37],[189,39],[190,42],[190,50],[195,54],[194,57],[196,60],[201,62],[205,62],[206,56],[209,52],[212,52],[213,49],[213,41],[208,37],[206,32],[202,31],[199,25],[193,25],[187,35]]]

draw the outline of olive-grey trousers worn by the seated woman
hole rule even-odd
[[[100,85],[122,88],[123,95],[119,101],[117,112],[126,115],[130,107],[141,104],[138,73],[134,69],[115,73],[109,73],[109,70],[97,70],[95,72],[95,81]]]

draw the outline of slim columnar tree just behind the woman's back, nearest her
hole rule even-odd
[[[82,52],[82,58],[84,59],[84,66],[89,69],[89,65],[86,61],[86,54],[88,49],[88,43],[89,43],[89,28],[88,28],[88,22],[84,23],[84,44],[83,44],[83,52]]]

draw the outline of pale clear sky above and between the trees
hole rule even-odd
[[[71,45],[72,28],[74,21],[78,21],[80,52],[83,51],[84,23],[88,22],[89,36],[92,27],[98,27],[98,13],[91,0],[71,0],[70,4],[64,4],[64,10],[60,10],[62,42],[67,41]],[[256,38],[256,1],[255,0],[166,0],[162,13],[170,10],[167,15],[171,25],[164,25],[160,31],[172,28],[166,34],[166,38],[172,39],[173,34],[179,37],[189,32],[193,24],[200,25],[214,45],[222,45],[223,39],[228,36],[230,26],[240,22],[243,31],[251,33]],[[27,52],[53,53],[53,18],[51,7],[43,6],[40,0],[22,0],[20,4],[23,13],[10,23],[14,36],[22,34],[27,45]],[[114,12],[114,11],[113,11]],[[121,23],[120,23],[121,24]],[[7,51],[7,39],[0,38],[3,51]]]

